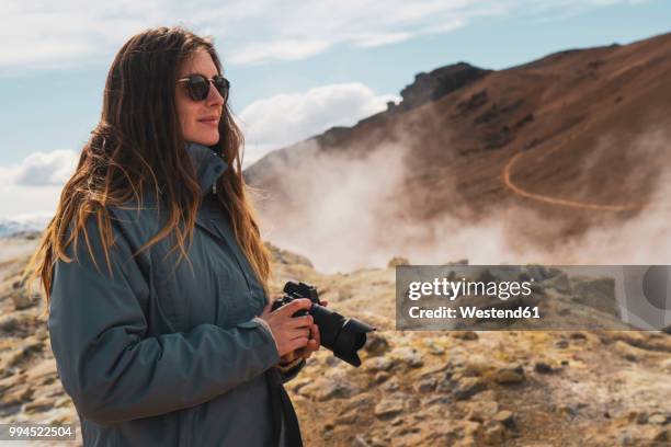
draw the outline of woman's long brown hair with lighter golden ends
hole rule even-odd
[[[56,214],[42,234],[37,250],[24,270],[24,278],[39,278],[47,306],[53,267],[66,255],[70,243],[77,247],[80,231],[89,241],[86,221],[96,219],[100,239],[111,273],[109,248],[113,245],[106,206],[130,199],[141,204],[145,191],[155,192],[157,204],[167,207],[167,224],[135,254],[166,237],[173,236],[172,251],[179,261],[187,257],[202,193],[186,152],[175,106],[179,68],[196,50],[204,49],[221,73],[221,62],[209,38],[181,26],[146,30],[128,39],[118,50],[107,73],[100,123],[91,131],[79,163],[66,183]],[[246,193],[242,176],[244,138],[228,103],[223,106],[219,152],[229,168],[217,181],[217,197],[230,219],[235,237],[247,255],[266,295],[271,275],[270,253],[261,241],[255,213]],[[160,192],[160,198],[159,198]],[[72,231],[66,240],[68,228]],[[91,257],[94,254],[89,245]]]

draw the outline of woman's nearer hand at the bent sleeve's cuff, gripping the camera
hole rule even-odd
[[[312,316],[292,316],[299,310],[307,310],[311,306],[312,301],[307,298],[300,298],[271,312],[272,303],[269,303],[259,316],[270,326],[277,344],[280,357],[307,346],[311,326],[315,325],[312,324]]]

